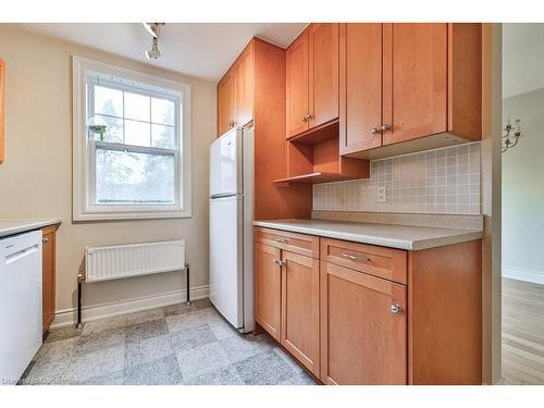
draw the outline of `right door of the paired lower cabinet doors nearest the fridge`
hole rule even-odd
[[[319,261],[283,251],[282,345],[319,375]]]

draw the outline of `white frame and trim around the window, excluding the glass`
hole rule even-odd
[[[95,200],[95,156],[96,147],[100,141],[90,140],[87,136],[87,77],[89,73],[122,78],[131,85],[168,89],[172,97],[180,102],[175,120],[181,135],[176,137],[174,154],[175,203],[174,205],[96,205]],[[138,220],[191,217],[190,175],[190,86],[178,82],[161,78],[150,74],[131,71],[102,62],[91,61],[82,57],[72,57],[73,81],[73,220],[74,221],[107,221],[107,220]],[[122,85],[120,85],[123,88]],[[123,144],[108,143],[109,149],[127,148]],[[147,152],[153,148],[131,146],[129,151]],[[165,149],[157,149],[164,152]]]

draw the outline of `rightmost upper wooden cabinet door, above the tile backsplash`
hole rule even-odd
[[[447,24],[384,24],[383,70],[383,145],[447,131]]]

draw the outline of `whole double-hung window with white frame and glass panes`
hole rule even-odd
[[[74,220],[190,217],[190,88],[78,57],[73,71]]]

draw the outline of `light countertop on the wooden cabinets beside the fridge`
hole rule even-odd
[[[441,247],[483,237],[483,232],[478,230],[323,220],[255,221],[254,225],[406,250]]]

